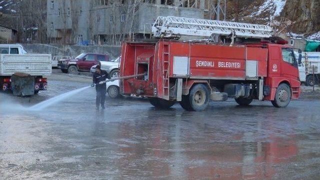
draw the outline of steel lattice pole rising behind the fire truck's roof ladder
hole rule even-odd
[[[220,20],[220,14],[222,14],[222,20],[225,21],[225,6],[226,0],[211,0],[210,19]],[[215,42],[218,42],[219,35],[213,35],[213,39]]]

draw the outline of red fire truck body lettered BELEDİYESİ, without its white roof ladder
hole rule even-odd
[[[158,107],[168,107],[179,101],[184,103],[181,106],[185,109],[202,110],[193,108],[192,103],[186,101],[200,96],[206,98],[204,103],[207,105],[208,98],[225,100],[218,98],[223,95],[236,100],[272,100],[273,104],[275,98],[284,95],[290,100],[298,98],[300,93],[297,60],[293,50],[282,44],[229,46],[161,39],[157,42],[123,42],[121,55],[120,76],[147,72],[144,77],[121,80],[121,93],[148,96],[151,104]],[[277,87],[282,83],[290,91],[286,87],[276,96]],[[204,96],[203,92],[202,96],[201,93],[194,94],[192,88],[196,84],[202,84],[202,87],[197,86],[205,92]]]

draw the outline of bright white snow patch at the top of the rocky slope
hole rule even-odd
[[[262,12],[269,11],[270,18],[273,19],[275,16],[279,16],[280,12],[283,10],[286,0],[266,0],[261,6],[259,6],[258,11],[252,12],[249,16],[253,17],[261,14]]]

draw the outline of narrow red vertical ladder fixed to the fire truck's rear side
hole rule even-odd
[[[163,98],[169,100],[169,44],[162,41]]]

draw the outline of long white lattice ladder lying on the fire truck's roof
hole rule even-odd
[[[272,28],[268,25],[197,19],[176,16],[158,16],[152,25],[155,37],[170,38],[178,35],[211,36],[212,34],[238,37],[271,37]]]

